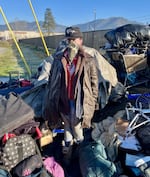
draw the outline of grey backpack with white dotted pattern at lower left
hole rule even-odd
[[[15,136],[2,147],[1,160],[8,171],[25,158],[37,153],[36,143],[28,134]]]

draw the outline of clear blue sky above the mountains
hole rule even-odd
[[[30,0],[38,21],[44,21],[50,8],[57,24],[71,26],[95,19],[124,17],[150,24],[150,0]],[[0,0],[0,7],[8,22],[35,21],[29,0]],[[5,24],[0,13],[0,25]]]

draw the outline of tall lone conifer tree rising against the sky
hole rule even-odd
[[[50,33],[55,29],[55,20],[49,8],[45,11],[43,28],[47,32],[47,35],[50,35]]]

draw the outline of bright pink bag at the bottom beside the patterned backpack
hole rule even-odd
[[[44,166],[55,177],[65,177],[63,168],[55,161],[54,157],[44,159]]]

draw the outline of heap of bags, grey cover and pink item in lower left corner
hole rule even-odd
[[[52,142],[52,134],[41,123],[20,95],[0,96],[1,177],[64,177],[55,158],[42,154],[41,148]]]

